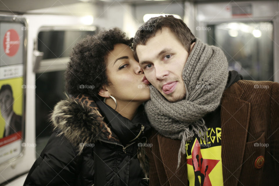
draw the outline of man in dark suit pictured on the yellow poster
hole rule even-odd
[[[22,117],[16,115],[12,110],[13,103],[12,87],[10,85],[2,85],[0,89],[0,110],[5,120],[3,137],[21,130]]]

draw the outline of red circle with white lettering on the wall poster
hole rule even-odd
[[[19,36],[17,31],[10,29],[6,32],[3,40],[4,52],[7,56],[14,56],[19,49]]]

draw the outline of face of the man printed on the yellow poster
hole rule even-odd
[[[0,109],[3,118],[8,118],[12,112],[13,97],[10,90],[4,90],[0,94]]]

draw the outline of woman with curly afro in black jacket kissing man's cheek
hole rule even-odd
[[[149,82],[131,44],[114,28],[75,45],[65,72],[72,98],[55,106],[54,132],[24,185],[147,184]]]

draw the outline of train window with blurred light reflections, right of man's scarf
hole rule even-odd
[[[273,25],[230,22],[208,25],[208,44],[223,49],[229,70],[245,80],[273,81]]]

